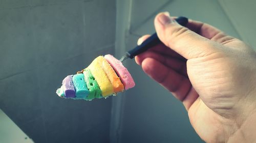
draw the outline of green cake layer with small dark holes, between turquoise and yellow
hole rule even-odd
[[[86,80],[87,88],[89,90],[89,96],[87,100],[92,100],[94,98],[102,98],[101,90],[95,78],[93,77],[89,69],[84,69],[83,71],[84,79]]]

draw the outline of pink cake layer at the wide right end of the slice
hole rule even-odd
[[[119,60],[117,60],[113,55],[110,54],[106,54],[104,58],[106,59],[106,61],[110,63],[110,65],[116,71],[117,75],[123,83],[125,90],[131,89],[135,86],[135,82],[131,74]]]

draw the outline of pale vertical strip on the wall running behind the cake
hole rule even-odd
[[[116,42],[115,57],[117,59],[126,52],[126,39],[129,35],[131,23],[132,0],[116,0]],[[119,93],[112,97],[110,142],[117,143],[120,140],[120,126],[122,122],[122,111],[125,93]]]

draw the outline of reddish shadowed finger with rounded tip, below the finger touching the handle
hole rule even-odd
[[[172,92],[177,99],[180,101],[185,99],[191,88],[191,83],[188,78],[152,58],[144,59],[141,65],[143,71],[148,74],[148,76],[159,82],[165,89]]]

